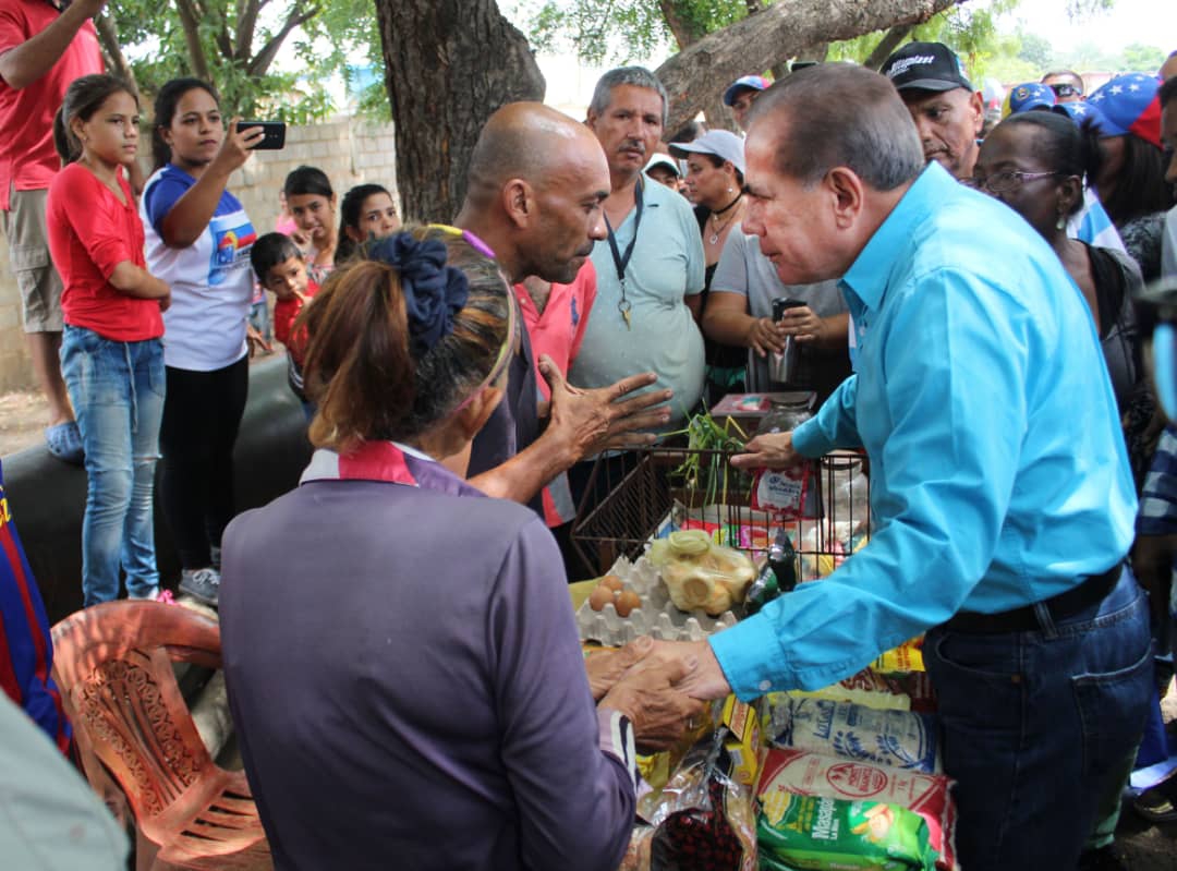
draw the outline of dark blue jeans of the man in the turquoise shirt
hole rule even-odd
[[[1152,645],[1131,572],[1057,624],[1037,616],[1033,632],[924,639],[967,871],[1071,871],[1144,729]]]

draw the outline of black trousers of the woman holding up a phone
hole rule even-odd
[[[160,499],[185,569],[212,565],[210,545],[220,546],[233,519],[233,445],[248,390],[247,357],[212,372],[167,367]]]

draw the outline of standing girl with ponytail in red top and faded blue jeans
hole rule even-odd
[[[66,91],[53,125],[65,167],[49,186],[49,252],[61,273],[61,371],[86,448],[85,605],[159,592],[152,490],[164,410],[161,310],[168,286],[146,270],[144,228],[126,167],[139,105],[111,75]]]

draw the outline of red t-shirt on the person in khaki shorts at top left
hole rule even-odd
[[[27,42],[61,13],[47,0],[0,0],[0,54]],[[94,22],[78,29],[49,72],[15,91],[0,79],[0,210],[8,211],[9,187],[42,191],[61,167],[53,148],[53,115],[69,82],[102,72]]]

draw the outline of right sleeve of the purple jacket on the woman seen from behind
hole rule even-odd
[[[539,518],[507,551],[487,613],[521,864],[617,867],[637,803],[630,724],[596,711],[560,552]]]

